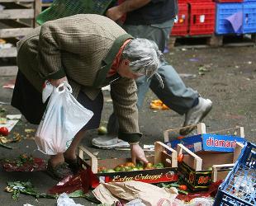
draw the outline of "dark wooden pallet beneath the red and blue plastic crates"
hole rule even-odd
[[[253,46],[256,44],[256,34],[250,34],[251,38],[245,38],[245,35],[187,35],[170,36],[168,48],[206,48],[220,46]],[[230,40],[229,40],[230,39]],[[233,40],[233,42],[232,42]]]

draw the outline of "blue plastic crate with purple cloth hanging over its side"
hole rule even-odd
[[[226,18],[237,12],[243,12],[243,3],[239,2],[227,2],[227,3],[216,3],[216,34],[241,34],[243,32],[243,26],[235,32],[230,21]]]

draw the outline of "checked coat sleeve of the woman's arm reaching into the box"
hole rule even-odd
[[[139,142],[142,136],[138,123],[136,90],[135,81],[128,78],[121,78],[111,84],[111,98],[119,123],[118,138],[128,143]]]

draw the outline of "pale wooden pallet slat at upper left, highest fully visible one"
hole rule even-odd
[[[0,19],[31,19],[34,15],[34,9],[7,9],[0,12]]]

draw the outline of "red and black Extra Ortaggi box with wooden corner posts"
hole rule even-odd
[[[84,156],[90,157],[85,160]],[[98,173],[99,167],[105,166],[107,169],[113,169],[120,164],[130,162],[128,158],[111,158],[105,160],[98,160],[91,152],[84,147],[79,147],[79,158],[83,166],[87,166],[92,170],[93,181],[91,182],[92,188],[97,187],[101,182],[122,182],[127,180],[137,180],[147,183],[159,182],[175,182],[178,180],[178,162],[177,152],[171,147],[166,146],[164,143],[156,142],[154,144],[154,155],[147,157],[149,162],[157,164],[162,162],[163,169],[151,169],[142,171],[116,171],[109,173]]]

